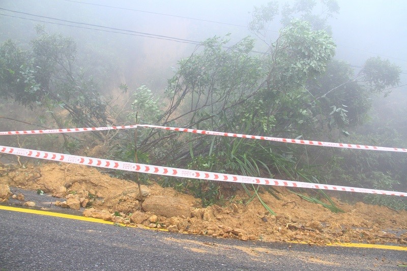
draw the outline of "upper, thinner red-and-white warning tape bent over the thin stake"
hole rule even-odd
[[[324,141],[313,141],[313,140],[302,140],[302,139],[291,139],[291,138],[279,138],[279,137],[269,137],[269,136],[255,136],[255,135],[245,135],[245,134],[205,131],[205,130],[186,129],[186,128],[175,128],[175,127],[148,125],[148,124],[127,125],[127,126],[112,126],[112,127],[54,129],[54,130],[9,131],[9,132],[0,132],[0,135],[32,135],[32,134],[75,133],[75,132],[85,132],[85,131],[131,129],[131,128],[136,128],[136,127],[156,128],[156,129],[164,129],[164,130],[169,130],[169,131],[187,132],[187,133],[203,134],[203,135],[218,135],[218,136],[260,139],[260,140],[269,140],[269,141],[304,144],[304,145],[314,145],[314,146],[326,146],[326,147],[337,147],[337,148],[354,148],[354,149],[366,149],[366,150],[382,150],[384,152],[407,153],[407,148],[380,147],[380,146],[369,146],[369,145],[360,145],[360,144],[335,143],[335,142],[324,142]]]

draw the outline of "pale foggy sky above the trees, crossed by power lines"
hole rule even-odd
[[[11,38],[21,44],[27,43],[35,37],[34,26],[41,23],[51,33],[61,33],[75,39],[81,64],[100,62],[103,65],[109,62],[111,85],[107,88],[125,82],[132,88],[145,84],[159,92],[172,75],[171,67],[176,67],[177,61],[190,55],[195,48],[196,45],[188,41],[199,42],[230,33],[230,44],[233,44],[250,35],[247,25],[253,6],[267,2],[2,0],[0,8],[37,16],[1,10],[0,41]],[[407,2],[339,0],[338,4],[339,14],[329,21],[337,43],[336,57],[349,62],[356,70],[368,57],[377,55],[398,65],[403,72],[400,87],[393,89],[392,97],[397,100],[398,95],[407,91],[402,86],[407,84]],[[277,35],[279,27],[278,19],[270,24],[271,39]],[[103,31],[96,31],[95,28]],[[161,37],[145,37],[147,34]],[[167,40],[173,38],[181,40]],[[188,41],[180,42],[182,40]],[[261,43],[257,46],[261,49]]]

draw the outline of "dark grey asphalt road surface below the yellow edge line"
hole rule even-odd
[[[407,270],[406,251],[242,242],[0,209],[0,270]]]

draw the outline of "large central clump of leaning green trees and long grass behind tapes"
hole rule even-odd
[[[328,16],[338,10],[334,1],[322,4]],[[304,134],[319,137],[327,130],[334,133],[335,129],[350,136],[348,129],[355,126],[371,106],[369,95],[398,82],[397,67],[376,58],[354,75],[348,64],[333,61],[335,44],[330,35],[321,30],[326,28],[327,17],[310,16],[314,7],[310,1],[284,6],[283,19],[302,12],[302,20],[285,21],[279,37],[261,57],[251,53],[254,46],[251,38],[231,47],[225,47],[228,37],[202,42],[190,57],[179,62],[175,76],[168,80],[169,104],[157,122],[291,138]],[[263,35],[261,32],[277,13],[274,4],[256,8],[251,29],[256,35]],[[384,77],[371,80],[375,71],[384,72],[381,73]],[[265,142],[247,139],[154,131],[143,135],[140,148],[159,163],[171,161],[176,166],[188,165],[196,170],[267,177],[278,174],[282,178],[313,183],[327,183],[336,170],[334,167],[322,177],[322,166],[316,163],[317,159],[310,161],[308,155],[313,152],[308,154],[306,148],[270,147]],[[329,155],[329,151],[319,152],[319,158],[327,158],[324,163],[329,161]],[[343,165],[344,160],[335,159],[330,160],[331,165],[338,168],[339,164]],[[325,166],[329,168],[329,164]],[[353,173],[348,174],[347,180],[353,176]],[[179,191],[190,191],[202,198],[204,204],[212,204],[224,196],[222,186],[212,182],[166,178],[163,183]],[[244,189],[249,201],[258,196],[256,189],[253,188],[254,193]],[[333,212],[341,211],[323,192],[316,192],[315,196],[299,195]],[[259,196],[258,199],[262,201]]]

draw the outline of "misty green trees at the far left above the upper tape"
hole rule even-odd
[[[66,119],[55,113],[64,109],[75,125],[105,126],[107,105],[93,79],[76,66],[75,42],[41,27],[37,31],[26,50],[10,40],[0,45],[0,97],[45,107],[59,124]]]

